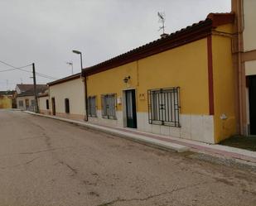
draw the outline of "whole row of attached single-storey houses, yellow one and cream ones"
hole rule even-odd
[[[208,143],[242,133],[237,19],[234,12],[210,13],[181,31],[51,82],[39,97],[40,112]]]

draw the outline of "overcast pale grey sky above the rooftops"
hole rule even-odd
[[[210,12],[230,12],[231,0],[0,0],[0,61],[36,72],[46,84],[80,72],[128,50],[157,40],[157,12],[171,33],[204,20]],[[0,63],[0,90],[32,84],[32,74]]]

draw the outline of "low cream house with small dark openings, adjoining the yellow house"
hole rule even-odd
[[[48,83],[48,86],[49,113],[58,117],[85,119],[85,84],[80,73]],[[40,102],[46,105],[46,98],[40,98]],[[39,109],[40,113],[45,113],[45,107]]]

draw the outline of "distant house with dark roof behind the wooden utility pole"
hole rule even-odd
[[[44,93],[48,89],[46,84],[36,84],[36,94]],[[36,101],[33,84],[17,84],[17,108],[28,111],[36,110]]]

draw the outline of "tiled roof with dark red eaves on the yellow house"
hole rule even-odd
[[[164,50],[170,50],[176,46],[181,46],[191,41],[196,41],[210,35],[211,29],[215,28],[216,26],[232,22],[234,22],[233,13],[210,13],[204,21],[194,23],[191,26],[186,26],[186,28],[173,32],[164,38],[157,39],[156,41],[152,41],[146,45],[139,46],[136,49],[129,50],[122,55],[115,56],[110,60],[106,60],[97,65],[85,68],[83,69],[82,76],[98,73],[120,65],[125,65],[134,60],[140,60],[147,56],[160,53]]]

